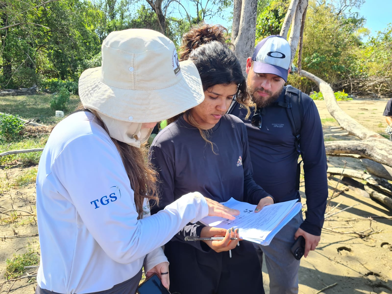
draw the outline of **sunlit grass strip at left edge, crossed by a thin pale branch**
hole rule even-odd
[[[7,150],[45,147],[48,138],[49,136],[42,136],[40,138],[25,138],[24,140],[12,143],[0,143],[0,153]],[[0,157],[0,165],[8,167],[13,165],[21,165],[22,167],[37,165],[40,161],[41,153],[42,152],[29,152],[2,156]]]

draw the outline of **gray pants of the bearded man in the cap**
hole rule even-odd
[[[297,294],[299,260],[291,253],[294,243],[294,234],[303,222],[300,211],[287,223],[272,239],[270,245],[256,247],[260,263],[263,263],[263,254],[270,279],[270,294]]]

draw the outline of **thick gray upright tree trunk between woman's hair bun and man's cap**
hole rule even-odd
[[[234,1],[234,5],[238,7],[238,0]],[[237,2],[237,4],[235,4]],[[240,24],[238,26],[238,34],[233,42],[235,52],[241,62],[242,72],[246,76],[245,62],[249,56],[252,56],[254,50],[254,40],[256,38],[256,15],[257,0],[242,0]],[[233,27],[234,18],[233,18]]]

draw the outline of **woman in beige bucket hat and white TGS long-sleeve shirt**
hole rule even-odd
[[[238,214],[194,192],[150,216],[156,178],[140,146],[156,122],[203,101],[198,71],[163,34],[112,32],[79,94],[84,111],[56,125],[38,166],[36,293],[133,294],[143,266],[169,287],[160,246],[207,214]]]

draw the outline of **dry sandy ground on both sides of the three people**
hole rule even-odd
[[[365,127],[376,132],[383,132],[385,118],[382,116],[385,101],[353,100],[338,102],[339,106],[350,116],[360,121]],[[323,120],[325,134],[336,134],[339,131],[330,129],[336,122],[325,120],[332,118],[323,101],[316,101],[320,117]],[[326,140],[358,140],[352,136],[332,135]],[[328,158],[328,165],[343,167],[342,160],[347,160],[347,168],[363,169],[359,160],[349,158]],[[34,169],[30,167],[28,169]],[[27,246],[37,249],[38,233],[35,214],[34,184],[23,187],[12,187],[17,176],[27,169],[0,169],[0,211],[19,209],[14,222],[5,223],[9,213],[0,213],[0,285],[2,285],[7,258],[13,254],[22,254]],[[321,241],[318,248],[301,260],[299,270],[299,293],[316,293],[334,285],[320,293],[392,293],[392,212],[384,205],[369,198],[363,190],[363,183],[339,176],[328,178],[329,195],[343,191],[333,198],[327,207],[327,213],[339,212],[325,220]],[[10,186],[9,186],[10,185]],[[303,185],[303,183],[302,183]],[[301,187],[304,191],[304,187]],[[306,196],[303,203],[306,203]],[[336,205],[339,204],[339,207]],[[354,207],[351,207],[355,205]],[[348,208],[345,211],[343,209]],[[340,212],[341,211],[341,212]],[[26,215],[26,216],[25,216]],[[372,220],[366,219],[373,216]],[[388,218],[389,217],[389,218]],[[17,236],[14,235],[18,234]],[[10,236],[5,238],[4,236]],[[35,270],[29,270],[33,273]],[[265,291],[269,293],[269,278],[263,266]],[[0,294],[34,293],[35,281],[28,278],[5,282]],[[186,294],[186,293],[183,293]]]

